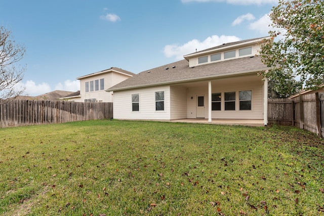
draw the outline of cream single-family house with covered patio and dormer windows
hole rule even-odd
[[[268,68],[258,53],[270,37],[230,42],[143,71],[108,88],[116,119],[259,119],[267,124]]]

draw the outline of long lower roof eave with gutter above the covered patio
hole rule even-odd
[[[209,76],[204,76],[204,77],[194,77],[194,78],[187,78],[187,79],[178,79],[178,80],[173,80],[173,81],[163,81],[163,82],[155,82],[155,83],[149,83],[149,84],[132,85],[129,87],[110,88],[105,91],[113,92],[113,91],[130,90],[130,89],[137,89],[137,88],[144,88],[144,87],[152,87],[155,85],[163,85],[163,84],[175,84],[175,83],[182,83],[182,82],[188,82],[188,81],[203,81],[203,80],[207,80],[207,79],[220,78],[220,77],[225,77],[225,76],[236,76],[236,75],[257,73],[257,72],[260,72],[263,70],[269,70],[269,68],[266,67],[266,68],[259,68],[257,70],[238,71],[238,72],[231,72],[231,73],[209,75]]]

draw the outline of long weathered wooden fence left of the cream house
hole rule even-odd
[[[112,103],[15,100],[0,104],[0,127],[112,117]]]

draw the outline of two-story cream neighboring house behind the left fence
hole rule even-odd
[[[133,75],[135,74],[127,70],[111,67],[107,70],[80,76],[77,77],[80,80],[80,91],[60,99],[74,102],[112,102],[113,94],[105,92],[105,89]]]

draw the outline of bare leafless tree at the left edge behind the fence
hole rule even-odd
[[[0,26],[0,103],[24,91],[18,84],[23,79],[25,66],[21,67],[18,62],[25,52],[25,48],[13,40],[11,31]]]

